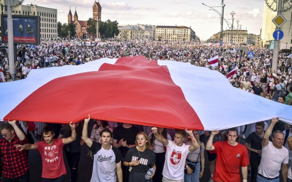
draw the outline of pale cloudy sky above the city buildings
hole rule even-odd
[[[79,20],[92,17],[92,6],[95,0],[25,0],[23,4],[33,4],[57,9],[58,21],[67,23],[67,15],[71,6],[75,7]],[[214,7],[221,13],[221,0],[100,0],[101,20],[117,20],[119,25],[184,25],[191,26],[201,40],[207,40],[214,33],[220,32],[220,15],[209,10]],[[233,29],[237,29],[236,20],[242,24],[241,29],[248,33],[260,34],[264,0],[224,0],[224,18],[232,22],[230,12],[234,11]],[[223,30],[229,29],[224,22]]]

